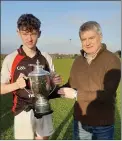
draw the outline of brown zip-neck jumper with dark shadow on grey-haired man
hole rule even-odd
[[[77,57],[69,78],[70,87],[78,91],[74,118],[92,126],[113,124],[120,77],[120,60],[105,44],[90,65],[83,55]]]

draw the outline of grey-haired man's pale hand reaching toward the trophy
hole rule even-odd
[[[72,89],[72,88],[60,88],[58,90],[58,94],[61,94],[62,97],[65,98],[71,98],[74,99],[76,98],[76,90]]]

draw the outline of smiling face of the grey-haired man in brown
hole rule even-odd
[[[102,35],[94,30],[81,32],[82,49],[87,54],[94,54],[101,46]]]

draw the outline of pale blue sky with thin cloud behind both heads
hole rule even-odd
[[[41,21],[37,47],[48,53],[80,53],[79,28],[97,21],[103,41],[115,52],[121,49],[121,1],[2,1],[1,53],[11,53],[21,45],[17,20],[31,13]]]

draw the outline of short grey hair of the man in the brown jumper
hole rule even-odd
[[[97,23],[96,21],[88,21],[88,22],[85,22],[83,25],[81,25],[79,29],[79,36],[81,32],[88,31],[88,30],[95,30],[97,33],[102,35],[100,24]]]

